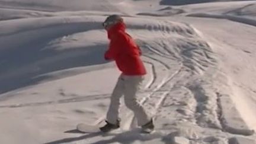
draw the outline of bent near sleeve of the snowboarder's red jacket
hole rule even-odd
[[[105,60],[115,59],[120,53],[123,53],[123,47],[126,39],[121,33],[117,33],[111,40],[108,50],[105,52]]]

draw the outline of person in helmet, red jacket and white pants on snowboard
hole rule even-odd
[[[133,111],[137,124],[144,132],[154,129],[152,117],[137,102],[136,94],[142,84],[146,69],[140,59],[141,51],[132,37],[126,33],[126,24],[120,15],[110,15],[103,23],[107,30],[110,44],[105,52],[106,60],[114,60],[121,71],[116,87],[111,95],[105,126],[100,127],[102,132],[109,132],[120,127],[119,109],[120,98],[124,95],[124,103]]]

